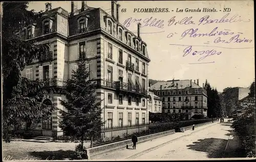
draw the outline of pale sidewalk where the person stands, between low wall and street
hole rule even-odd
[[[162,147],[163,145],[168,144],[169,142],[176,140],[178,138],[189,136],[191,133],[197,132],[209,126],[215,125],[218,122],[210,123],[204,126],[196,127],[195,130],[186,130],[185,132],[176,132],[174,134],[169,134],[167,136],[163,136],[160,138],[152,139],[151,141],[146,142],[138,142],[136,146],[136,150],[133,148],[129,149],[121,149],[115,150],[113,152],[102,153],[99,155],[94,156],[91,160],[94,159],[124,159],[124,158],[133,158],[138,156],[139,154],[143,154],[145,152],[151,151],[158,147]],[[132,141],[131,141],[132,143]]]

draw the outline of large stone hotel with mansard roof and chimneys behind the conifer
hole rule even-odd
[[[120,22],[120,5],[111,2],[111,15],[101,8],[71,2],[71,13],[46,3],[46,11],[36,21],[18,32],[25,40],[51,43],[49,51],[26,66],[24,77],[45,80],[49,94],[42,101],[64,109],[59,99],[63,83],[78,67],[76,61],[88,61],[90,79],[97,84],[97,100],[101,102],[104,127],[148,122],[148,63],[146,43],[140,36],[140,24],[135,35]],[[61,135],[59,113],[38,124],[40,136]]]

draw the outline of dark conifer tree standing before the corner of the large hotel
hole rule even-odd
[[[66,100],[60,100],[64,110],[60,110],[59,127],[80,138],[81,148],[85,138],[90,138],[92,147],[93,134],[100,133],[103,124],[101,101],[96,98],[96,84],[88,80],[90,72],[86,63],[84,60],[77,62],[78,69],[65,85]]]

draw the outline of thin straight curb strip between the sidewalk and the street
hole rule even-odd
[[[218,122],[215,122],[215,123],[213,123],[212,125],[209,125],[209,127],[210,127],[210,126],[214,126],[214,125],[216,125],[216,124],[218,124]],[[205,127],[205,128],[208,128],[208,127]],[[182,138],[182,137],[190,136],[191,134],[196,133],[196,132],[198,132],[198,131],[200,131],[200,130],[203,130],[203,129],[205,129],[205,128],[202,128],[202,129],[193,131],[193,132],[191,132],[191,133],[189,133],[189,134],[186,134],[186,135],[180,136],[180,137],[178,137],[178,138],[172,139],[172,140],[170,140],[170,141],[167,141],[167,142],[162,143],[162,144],[160,144],[160,145],[157,145],[157,146],[155,146],[155,147],[152,147],[152,148],[146,149],[146,150],[144,150],[144,151],[135,153],[135,154],[133,154],[133,155],[127,156],[127,157],[125,157],[124,159],[138,157],[138,156],[141,155],[141,154],[144,154],[144,153],[150,152],[150,151],[152,151],[152,150],[155,150],[155,149],[157,149],[157,148],[159,148],[159,147],[162,147],[162,146],[164,146],[164,145],[167,145],[167,144],[173,142],[174,140],[178,140],[178,139],[180,139],[180,138]]]

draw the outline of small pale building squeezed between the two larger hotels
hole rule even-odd
[[[162,113],[162,98],[155,95],[153,89],[148,88],[148,111],[151,113]]]

